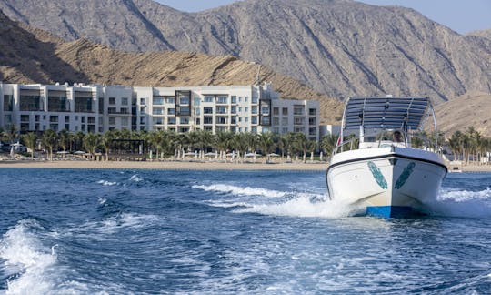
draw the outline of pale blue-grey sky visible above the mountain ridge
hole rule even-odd
[[[175,9],[196,12],[237,0],[155,0]],[[372,5],[411,7],[458,33],[491,29],[491,0],[362,0]]]

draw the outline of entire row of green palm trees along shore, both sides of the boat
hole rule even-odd
[[[48,129],[39,134],[29,132],[19,136],[14,126],[5,130],[0,129],[0,136],[2,140],[9,142],[20,139],[25,147],[31,150],[41,146],[45,149],[49,159],[53,159],[53,154],[57,151],[72,153],[77,150],[83,150],[92,156],[96,153],[103,153],[105,159],[108,159],[109,154],[114,152],[115,140],[133,139],[144,142],[142,152],[145,154],[151,152],[156,159],[182,158],[186,152],[196,152],[200,158],[203,158],[203,155],[208,152],[215,152],[218,158],[225,158],[226,153],[234,152],[237,158],[244,158],[246,153],[260,151],[265,156],[278,153],[282,158],[299,157],[306,161],[308,155],[313,158],[318,152],[323,152],[328,158],[336,148],[337,141],[335,135],[322,137],[317,143],[308,139],[303,133],[290,132],[278,135],[270,132],[264,134],[219,132],[212,134],[204,130],[180,134],[174,131],[123,129],[107,131],[104,134],[85,134],[81,131],[55,132]],[[349,145],[349,149],[357,147],[357,138],[352,139],[354,144]],[[439,133],[436,140],[435,135],[427,136],[423,132],[418,137],[412,137],[412,146],[414,148],[431,147],[431,143],[435,141],[440,150],[450,151],[455,160],[461,160],[466,164],[481,162],[481,158],[487,157],[487,153],[491,152],[491,138],[484,137],[476,131],[475,127],[468,127],[465,131],[456,131],[447,138],[443,133]]]

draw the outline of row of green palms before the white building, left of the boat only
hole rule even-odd
[[[267,160],[277,154],[282,158],[301,157],[303,161],[306,161],[307,156],[313,159],[319,151],[322,151],[324,155],[330,155],[337,140],[337,136],[327,136],[317,143],[306,137],[304,133],[293,132],[284,135],[271,132],[212,134],[204,130],[175,133],[174,131],[130,131],[128,129],[111,130],[104,134],[81,131],[73,133],[66,130],[55,132],[48,129],[43,133],[29,132],[17,137],[15,129],[9,128],[2,132],[2,137],[10,142],[20,139],[21,143],[31,150],[40,146],[50,160],[58,151],[73,153],[78,150],[85,151],[91,158],[101,153],[107,160],[110,154],[116,152],[117,140],[138,140],[144,143],[139,152],[146,156],[150,154],[153,158],[161,160],[184,158],[185,153],[196,153],[200,158],[204,158],[206,153],[212,152],[217,158],[225,158],[227,153],[233,152],[237,159],[245,158],[248,153],[260,153]]]

